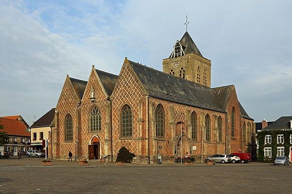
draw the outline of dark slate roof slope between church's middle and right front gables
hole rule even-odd
[[[116,81],[118,80],[118,76],[114,74],[110,74],[98,69],[95,69],[106,93],[108,96],[111,95],[113,88],[115,86]]]

